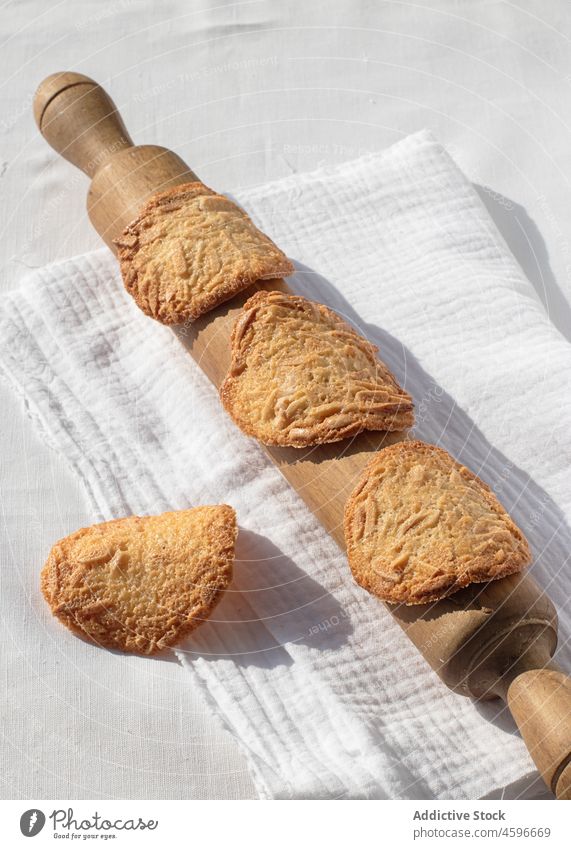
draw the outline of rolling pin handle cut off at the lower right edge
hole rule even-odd
[[[571,799],[571,678],[551,663],[516,675],[504,695],[548,787]]]

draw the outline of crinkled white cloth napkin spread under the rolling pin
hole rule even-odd
[[[297,262],[293,286],[379,345],[415,397],[416,434],[494,487],[559,602],[565,643],[570,346],[470,183],[423,132],[237,199]],[[352,582],[175,334],[138,311],[107,251],[34,272],[0,326],[3,371],[84,482],[94,521],[237,509],[233,588],[177,653],[260,796],[475,798],[533,769],[502,705],[449,692]]]

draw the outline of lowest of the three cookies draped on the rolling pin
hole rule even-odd
[[[479,477],[424,442],[383,448],[345,508],[358,584],[384,601],[424,604],[519,572],[527,540]]]

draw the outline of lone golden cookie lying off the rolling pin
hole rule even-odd
[[[42,592],[80,636],[154,654],[210,616],[232,579],[236,533],[225,504],[81,528],[52,548]]]

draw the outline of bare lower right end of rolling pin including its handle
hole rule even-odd
[[[393,615],[450,689],[506,702],[547,786],[571,798],[571,679],[552,661],[557,613],[531,576],[472,584]]]

